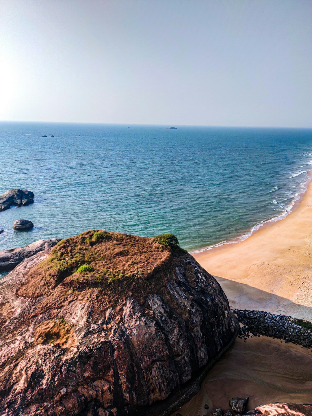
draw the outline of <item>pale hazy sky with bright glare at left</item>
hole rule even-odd
[[[0,0],[0,119],[312,127],[312,0]]]

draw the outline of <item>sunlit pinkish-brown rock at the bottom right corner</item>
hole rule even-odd
[[[245,413],[247,416],[312,416],[312,404],[272,403],[264,404]]]

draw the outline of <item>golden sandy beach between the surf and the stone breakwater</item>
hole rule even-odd
[[[312,181],[286,218],[247,240],[192,253],[230,306],[312,319]]]

